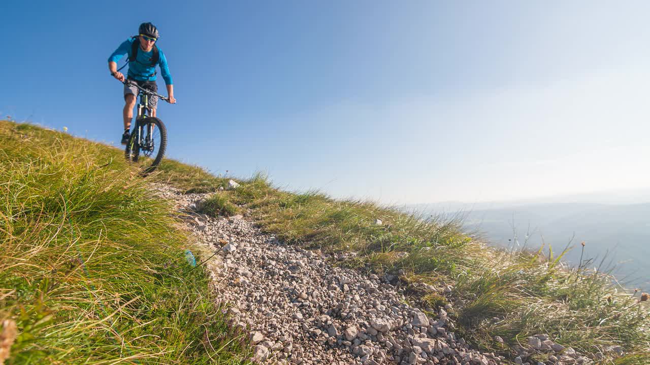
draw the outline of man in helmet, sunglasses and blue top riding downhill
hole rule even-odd
[[[155,45],[158,40],[158,29],[151,23],[142,23],[138,29],[138,35],[133,36],[120,44],[109,57],[110,75],[119,81],[124,82],[124,75],[118,71],[117,62],[123,55],[129,57],[129,71],[126,79],[135,81],[142,88],[148,88],[153,92],[158,92],[156,84],[156,65],[160,66],[162,79],[167,87],[169,102],[174,104],[174,84],[172,84],[172,75],[169,73],[167,58],[164,57],[161,49]],[[137,42],[137,43],[135,43]],[[122,69],[122,68],[120,68]],[[124,109],[122,116],[124,120],[124,133],[122,134],[122,144],[127,144],[131,136],[131,120],[133,119],[133,107],[138,95],[138,89],[135,86],[124,85]],[[158,97],[149,97],[149,106],[151,106],[151,116],[156,116],[156,105]]]

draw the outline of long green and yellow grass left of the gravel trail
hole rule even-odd
[[[0,121],[5,364],[242,364],[203,253],[122,151]]]

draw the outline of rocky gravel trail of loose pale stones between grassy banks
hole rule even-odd
[[[468,349],[445,310],[435,318],[405,300],[395,277],[365,276],[332,257],[285,245],[243,216],[196,213],[207,194],[159,188],[188,214],[212,251],[217,290],[250,333],[255,360],[286,364],[502,364]]]

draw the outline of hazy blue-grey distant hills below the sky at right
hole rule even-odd
[[[572,202],[492,203],[495,208],[482,203],[472,210],[460,203],[408,208],[425,215],[463,214],[468,228],[477,229],[489,243],[501,247],[538,249],[545,243],[558,252],[571,242],[573,249],[565,260],[573,265],[580,260],[580,242],[584,241],[584,258],[593,258],[592,267],[602,263],[603,270],[612,269],[627,286],[650,290],[650,203],[605,204],[586,200],[589,199],[565,197],[565,201]]]

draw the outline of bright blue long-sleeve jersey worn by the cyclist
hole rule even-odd
[[[120,58],[124,55],[131,57],[131,45],[133,42],[139,42],[138,38],[129,38],[116,49],[112,55],[109,57],[109,62],[117,63]],[[138,45],[139,47],[139,45]],[[155,70],[156,66],[151,66],[151,57],[153,57],[153,49],[150,52],[142,51],[142,48],[138,49],[138,55],[134,62],[129,62],[129,72],[127,75],[131,79],[137,81],[155,81],[156,75]],[[172,74],[169,72],[169,66],[167,66],[167,58],[164,57],[162,50],[158,48],[158,66],[161,68],[162,79],[166,85],[172,84]]]

